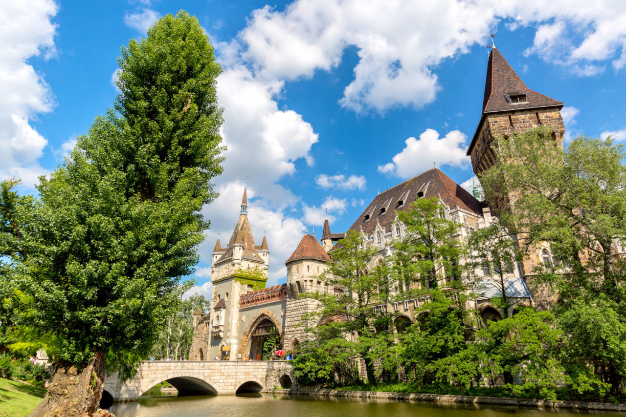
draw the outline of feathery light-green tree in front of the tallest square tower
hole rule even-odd
[[[626,264],[619,254],[626,236],[623,144],[581,136],[562,149],[550,128],[539,127],[496,138],[495,146],[496,164],[481,178],[486,198],[516,195],[500,221],[525,249],[550,243],[554,261],[538,266],[531,283],[558,293],[552,311],[570,335],[570,366],[583,374],[593,364],[612,394],[622,393],[626,351],[617,341],[626,323]],[[602,325],[591,325],[592,317],[602,317]]]

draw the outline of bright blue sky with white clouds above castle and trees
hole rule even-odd
[[[626,140],[626,3],[572,0],[53,1],[0,5],[0,177],[24,191],[113,106],[120,47],[185,9],[215,46],[228,151],[195,291],[249,178],[269,284],[307,228],[345,231],[377,191],[436,163],[471,183],[490,31],[526,85],[565,103],[567,138]]]

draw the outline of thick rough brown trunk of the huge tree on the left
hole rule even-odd
[[[48,392],[29,417],[93,416],[105,386],[105,362],[106,354],[98,352],[82,369],[64,361],[56,363]]]

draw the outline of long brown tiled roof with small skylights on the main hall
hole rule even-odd
[[[374,233],[378,221],[382,228],[390,231],[396,218],[395,211],[408,211],[411,203],[418,198],[418,193],[423,193],[423,197],[426,198],[439,197],[449,208],[458,206],[482,216],[483,206],[480,201],[439,169],[433,168],[378,194],[352,224],[350,230],[361,231],[362,228],[369,236]],[[403,202],[401,206],[400,201]],[[384,211],[381,211],[382,208]],[[369,216],[367,221],[366,216]]]

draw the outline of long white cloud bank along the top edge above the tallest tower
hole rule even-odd
[[[297,0],[284,10],[255,10],[231,51],[242,53],[260,77],[285,80],[329,71],[355,46],[359,61],[342,106],[421,108],[439,90],[438,65],[482,44],[503,19],[511,31],[536,26],[526,54],[578,76],[601,73],[611,59],[615,69],[626,65],[626,3],[610,0],[593,8],[568,0]]]

